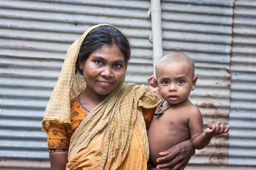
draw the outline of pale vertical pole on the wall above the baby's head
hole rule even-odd
[[[151,0],[151,24],[152,24],[154,75],[155,75],[157,60],[163,56],[161,20],[162,18],[161,18],[160,0]]]

